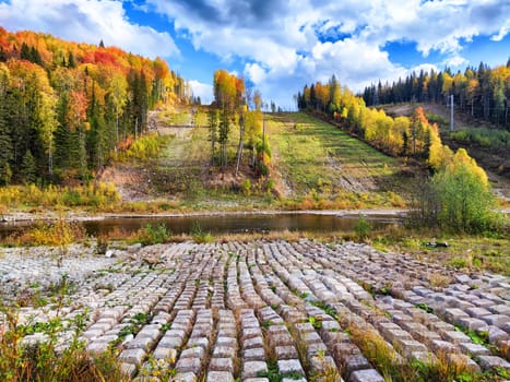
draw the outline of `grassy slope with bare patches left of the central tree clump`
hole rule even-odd
[[[197,109],[194,109],[197,110]],[[169,199],[186,210],[250,210],[266,206],[266,195],[245,195],[232,188],[232,177],[223,183],[218,181],[218,168],[210,170],[211,142],[206,109],[195,112],[193,127],[190,109],[165,110],[158,116],[158,129],[174,138],[161,153],[159,158],[151,164],[153,172],[153,194],[158,199]],[[232,162],[237,148],[239,132],[232,127],[228,152]],[[247,157],[247,155],[246,155]]]

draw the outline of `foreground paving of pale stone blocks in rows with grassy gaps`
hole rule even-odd
[[[508,367],[454,327],[488,332],[491,346],[503,354],[510,347],[508,277],[459,274],[367,244],[308,239],[111,250],[109,259],[95,255],[94,244],[71,246],[57,265],[55,249],[0,248],[2,302],[27,291],[49,299],[48,287],[67,274],[73,288],[59,314],[72,322],[90,310],[81,339],[95,354],[118,344],[119,361],[133,378],[150,369],[151,357],[189,381],[205,375],[205,381],[266,382],[258,375],[269,357],[282,370],[303,370],[304,357],[310,370],[328,363],[341,367],[346,381],[377,381],[380,375],[349,337],[355,329],[383,342],[402,362],[426,362],[444,351],[472,370]],[[161,262],[147,266],[147,256]],[[432,285],[435,275],[452,283]],[[365,289],[388,289],[391,296]],[[23,307],[20,323],[54,315],[50,309]],[[59,334],[60,350],[71,336],[72,329]],[[35,334],[23,343],[41,338]]]

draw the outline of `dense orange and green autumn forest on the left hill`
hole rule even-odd
[[[189,91],[163,59],[0,27],[0,183],[46,184],[86,181]]]

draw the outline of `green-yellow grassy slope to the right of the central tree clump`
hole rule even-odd
[[[268,118],[274,165],[296,195],[378,191],[400,170],[396,159],[308,115]]]

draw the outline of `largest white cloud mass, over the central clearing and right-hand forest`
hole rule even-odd
[[[332,73],[353,89],[405,75],[384,51],[389,41],[415,43],[425,62],[440,53],[442,62],[430,64],[463,64],[464,44],[479,35],[503,38],[510,14],[509,0],[146,1],[195,48],[240,58],[245,75],[285,103]],[[318,33],[344,38],[324,41]]]

